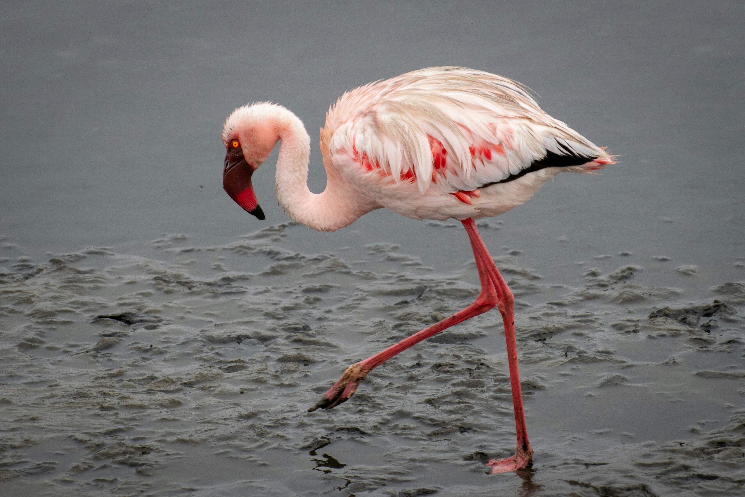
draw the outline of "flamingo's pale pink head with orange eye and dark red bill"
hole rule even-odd
[[[223,126],[226,148],[223,188],[247,213],[266,219],[253,192],[251,175],[267,160],[279,141],[279,131],[271,119],[271,104],[238,107]]]

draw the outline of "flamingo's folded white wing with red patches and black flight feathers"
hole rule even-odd
[[[478,190],[545,167],[592,172],[612,163],[519,83],[474,69],[421,69],[352,90],[329,111],[327,128],[329,121],[332,155],[343,151],[370,174],[416,183],[421,193]]]

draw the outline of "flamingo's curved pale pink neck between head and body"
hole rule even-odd
[[[276,196],[291,218],[319,231],[336,231],[373,210],[375,207],[361,203],[360,196],[348,185],[331,176],[323,193],[308,189],[311,139],[300,119],[283,110],[277,126],[282,143],[276,166]]]

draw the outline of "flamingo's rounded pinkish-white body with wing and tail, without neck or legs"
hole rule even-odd
[[[381,207],[440,220],[496,216],[558,172],[612,162],[516,81],[451,67],[345,93],[326,116],[321,151],[329,175]]]

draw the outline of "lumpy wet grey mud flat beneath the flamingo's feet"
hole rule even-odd
[[[288,248],[306,233],[285,223],[221,246],[172,234],[144,254],[48,260],[2,240],[1,493],[744,491],[738,268],[700,287],[697,272],[652,254],[601,255],[569,286],[524,267],[522,251],[495,257],[516,294],[536,455],[532,472],[489,475],[484,463],[515,443],[496,312],[387,361],[345,404],[306,412],[349,364],[469,304],[474,263],[441,272],[390,243]]]

